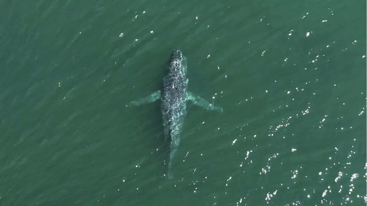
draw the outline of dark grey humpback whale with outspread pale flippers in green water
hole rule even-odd
[[[167,65],[167,74],[163,78],[163,91],[156,92],[145,98],[135,100],[126,104],[126,106],[138,106],[144,103],[161,100],[161,114],[166,140],[170,140],[170,160],[168,163],[168,177],[171,179],[170,172],[172,160],[180,143],[180,133],[183,120],[186,116],[186,103],[190,100],[192,103],[204,107],[207,110],[219,110],[221,107],[214,106],[207,100],[194,95],[187,90],[188,78],[186,77],[186,57],[182,55],[179,48],[172,52],[170,62]]]

